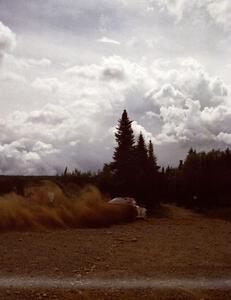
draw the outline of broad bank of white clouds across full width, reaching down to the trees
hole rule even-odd
[[[192,58],[149,64],[104,57],[65,69],[59,78],[39,77],[31,88],[49,103],[2,121],[3,173],[101,167],[111,160],[115,126],[125,108],[135,135],[142,131],[154,142],[160,163],[174,147],[180,157],[190,146],[230,144],[229,88]]]

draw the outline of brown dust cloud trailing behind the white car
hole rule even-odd
[[[15,193],[0,197],[0,230],[104,227],[136,216],[130,205],[107,203],[93,186],[67,197],[56,184],[44,181],[25,192],[25,197]]]

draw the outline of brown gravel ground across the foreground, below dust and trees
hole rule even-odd
[[[0,299],[231,299],[230,222],[165,210],[110,228],[1,233]]]

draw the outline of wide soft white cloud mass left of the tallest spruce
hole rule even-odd
[[[94,67],[73,66],[60,79],[35,79],[32,88],[47,99],[54,93],[56,97],[38,110],[13,112],[7,118],[1,171],[51,174],[63,171],[66,165],[96,169],[110,160],[114,137],[109,128],[125,105],[124,92],[138,84],[143,71],[138,64],[112,56]]]

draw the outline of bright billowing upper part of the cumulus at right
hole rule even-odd
[[[174,65],[175,64],[175,65]],[[156,105],[183,105],[187,98],[199,100],[202,108],[221,103],[228,95],[228,87],[192,58],[156,62],[152,67],[156,87],[147,97]]]

